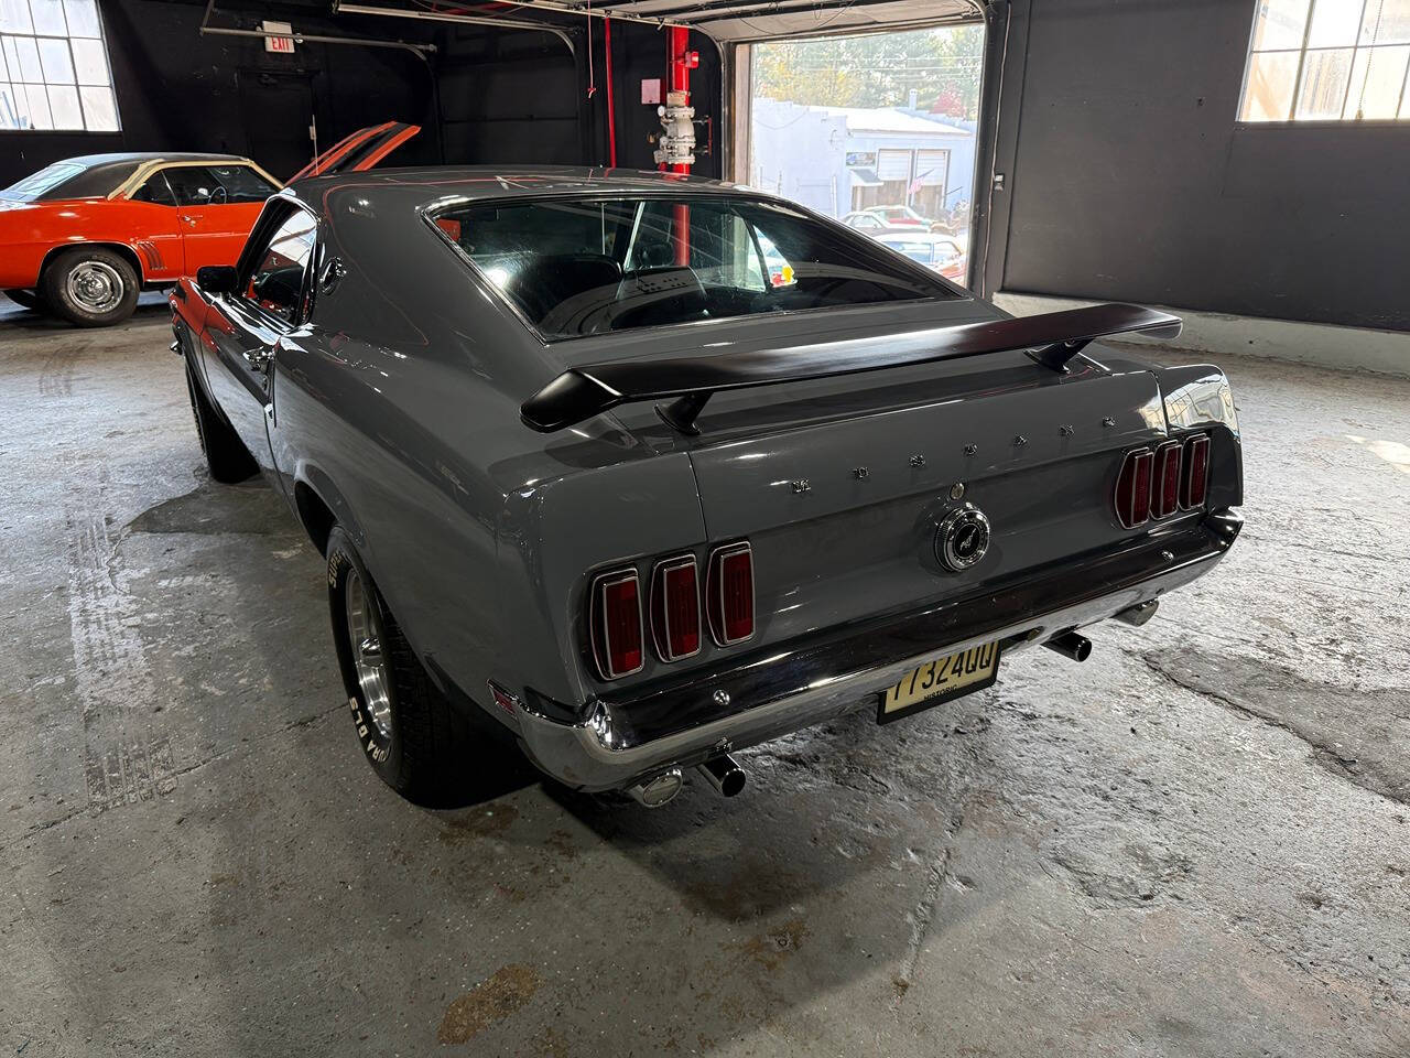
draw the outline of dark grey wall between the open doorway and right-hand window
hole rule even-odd
[[[1410,330],[1410,126],[1235,127],[1252,16],[1015,0],[991,279]]]

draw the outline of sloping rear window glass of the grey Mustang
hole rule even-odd
[[[550,340],[960,296],[862,236],[742,196],[481,203],[433,219]]]

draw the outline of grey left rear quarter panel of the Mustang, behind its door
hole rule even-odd
[[[320,200],[326,253],[347,275],[275,357],[278,471],[289,495],[312,490],[352,535],[436,679],[479,704],[492,676],[541,676],[575,697],[546,609],[557,567],[546,571],[537,535],[591,537],[594,505],[565,519],[544,497],[582,490],[557,482],[640,446],[602,425],[551,439],[523,426],[520,402],[557,365],[410,203],[368,206],[355,188]]]

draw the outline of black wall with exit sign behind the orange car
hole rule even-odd
[[[354,128],[396,118],[431,124],[399,152],[399,161],[437,157],[431,78],[403,51],[329,44],[299,45],[293,55],[265,51],[262,39],[202,37],[202,4],[100,0],[123,131],[3,133],[0,186],[61,158],[102,151],[219,151],[251,155],[275,176],[289,176],[312,157],[307,106],[319,142],[331,145]],[[368,20],[317,20],[266,13],[320,34],[429,39],[420,25],[368,25]],[[258,24],[245,16],[243,25]],[[221,13],[216,24],[235,18]]]

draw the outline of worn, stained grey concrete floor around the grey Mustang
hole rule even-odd
[[[1248,530],[1081,667],[431,813],[168,341],[0,319],[0,1054],[1410,1052],[1410,381],[1227,360]]]

